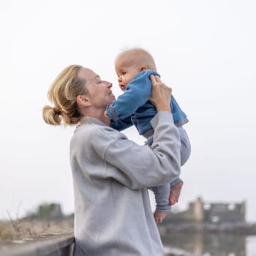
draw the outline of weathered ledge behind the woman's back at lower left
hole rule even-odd
[[[72,256],[73,233],[42,234],[0,246],[1,256]]]

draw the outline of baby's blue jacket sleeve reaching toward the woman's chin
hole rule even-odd
[[[132,116],[135,111],[143,106],[151,94],[150,75],[159,75],[153,70],[140,72],[127,85],[124,94],[121,94],[111,105],[107,106],[108,116],[114,121]]]

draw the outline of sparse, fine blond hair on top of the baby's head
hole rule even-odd
[[[147,69],[157,71],[156,64],[154,62],[153,56],[151,56],[148,51],[143,48],[129,48],[121,51],[121,53],[116,56],[116,61],[118,59],[124,58],[124,63],[127,66],[138,65],[145,66]]]

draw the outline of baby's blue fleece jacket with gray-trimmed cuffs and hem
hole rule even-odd
[[[107,106],[111,127],[121,131],[134,124],[140,135],[145,135],[152,129],[150,121],[157,114],[157,109],[148,101],[152,89],[150,75],[160,76],[153,70],[139,72],[127,85],[124,94]],[[173,95],[170,100],[170,108],[176,127],[181,127],[188,122],[186,114],[178,106]]]

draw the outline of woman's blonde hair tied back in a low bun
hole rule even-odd
[[[78,124],[82,115],[76,98],[88,94],[86,80],[78,76],[79,65],[71,65],[60,72],[48,91],[48,99],[54,107],[46,105],[42,110],[42,118],[47,124]]]

